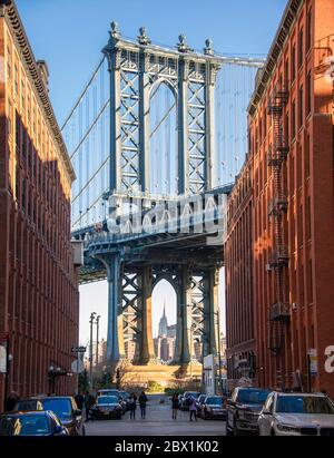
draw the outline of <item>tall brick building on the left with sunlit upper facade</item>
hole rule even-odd
[[[70,393],[78,282],[70,242],[75,178],[17,8],[0,1],[0,333],[12,355],[8,391]],[[53,371],[50,371],[53,368]],[[49,377],[51,376],[51,377]],[[4,397],[0,374],[0,406]]]

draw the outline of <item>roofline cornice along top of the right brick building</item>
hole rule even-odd
[[[252,99],[248,106],[248,113],[250,116],[254,116],[254,114],[256,113],[257,106],[259,101],[262,100],[262,97],[273,76],[273,72],[275,70],[279,56],[284,49],[286,39],[291,33],[291,29],[295,22],[295,19],[298,14],[299,8],[303,2],[304,0],[288,0],[288,3],[283,13],[283,18],[278,26],[277,33],[274,38],[271,50],[268,52],[266,64],[264,68],[259,70],[261,74],[258,75],[255,91],[252,96]]]

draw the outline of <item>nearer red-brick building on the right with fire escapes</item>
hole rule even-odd
[[[325,370],[334,344],[333,39],[332,0],[288,1],[249,104],[253,260],[245,269],[253,269],[256,382],[334,397]],[[227,265],[228,277],[228,254]],[[243,275],[229,284],[233,294]],[[227,301],[228,313],[234,306]],[[237,316],[237,328],[248,319]]]

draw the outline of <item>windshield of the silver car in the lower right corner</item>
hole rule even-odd
[[[327,398],[316,396],[279,396],[277,413],[334,415],[334,406]]]

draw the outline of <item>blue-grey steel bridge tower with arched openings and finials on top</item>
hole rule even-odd
[[[145,28],[137,42],[125,40],[116,22],[102,52],[110,76],[110,230],[127,203],[140,202],[143,215],[161,203],[204,196],[215,187],[214,98],[220,64],[210,40],[197,53],[180,36],[174,50],[154,46]],[[170,88],[176,101],[178,197],[150,188],[150,99],[160,85]],[[204,355],[216,354],[222,246],[206,246],[204,234],[137,238],[98,238],[87,253],[107,272],[108,361],[124,359],[126,341],[134,340],[134,363],[155,362],[151,294],[161,279],[177,295],[175,363],[191,361],[194,341],[202,343]]]

